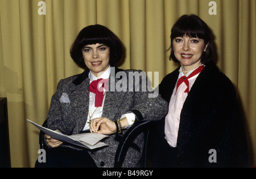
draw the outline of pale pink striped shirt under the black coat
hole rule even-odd
[[[180,67],[181,70],[181,67]],[[193,71],[185,74],[186,77],[189,76]],[[200,73],[196,74],[195,76],[188,79],[189,82],[189,91],[191,87],[193,86],[194,82],[196,81],[196,78],[199,76]],[[182,72],[180,72],[178,80],[180,77],[184,76]],[[168,114],[166,115],[165,120],[165,127],[164,127],[164,133],[166,134],[165,139],[167,140],[168,144],[171,147],[176,147],[177,144],[177,134],[179,131],[179,124],[180,124],[180,113],[181,109],[183,107],[183,104],[185,102],[185,99],[188,96],[188,93],[184,93],[185,89],[187,89],[187,85],[183,82],[176,92],[176,86],[177,82],[174,88],[174,91],[172,92],[171,100],[169,103],[169,110]],[[176,95],[175,95],[176,92]]]

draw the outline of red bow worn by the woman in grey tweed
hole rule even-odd
[[[109,79],[98,79],[94,80],[90,83],[89,85],[89,91],[92,93],[95,93],[95,107],[100,107],[102,106],[102,101],[104,97],[104,90],[107,88],[107,82]],[[102,84],[102,86],[98,86],[98,84]]]

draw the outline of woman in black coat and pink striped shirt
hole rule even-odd
[[[236,91],[213,63],[211,33],[196,15],[181,16],[171,29],[170,60],[180,66],[159,85],[169,103],[158,145],[160,166],[247,166]]]

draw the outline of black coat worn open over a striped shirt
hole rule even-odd
[[[179,68],[164,77],[159,85],[159,94],[167,102],[178,76]],[[164,118],[162,124],[158,146],[162,146],[164,140]],[[209,162],[210,149],[216,150],[217,163]],[[201,71],[184,102],[177,151],[176,166],[247,166],[246,134],[236,91],[229,78],[213,63]]]

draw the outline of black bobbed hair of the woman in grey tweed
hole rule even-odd
[[[115,64],[122,58],[121,40],[107,27],[100,24],[84,27],[77,35],[70,49],[70,55],[77,65],[85,69],[86,65],[82,57],[82,48],[85,45],[105,44],[110,48],[109,63]]]

